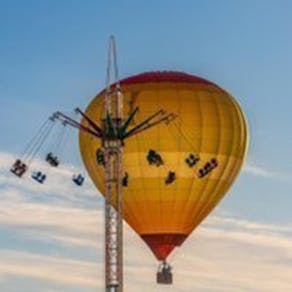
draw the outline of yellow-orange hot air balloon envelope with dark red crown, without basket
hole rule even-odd
[[[124,116],[139,107],[131,126],[160,109],[175,119],[135,135],[124,145],[124,219],[165,261],[224,197],[242,166],[247,124],[236,100],[206,79],[181,72],[148,72],[120,81]],[[86,109],[101,123],[103,90]],[[85,121],[84,121],[85,122]],[[100,140],[84,132],[80,151],[105,194]]]

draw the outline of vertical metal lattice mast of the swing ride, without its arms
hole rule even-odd
[[[113,70],[112,70],[113,69]],[[112,72],[113,71],[113,72]],[[114,86],[111,74],[114,74]],[[113,129],[119,129],[123,119],[123,96],[118,83],[118,66],[115,39],[110,37],[104,102],[104,132],[109,132],[106,117]],[[107,135],[103,140],[105,150],[105,290],[123,291],[123,143],[118,135]]]

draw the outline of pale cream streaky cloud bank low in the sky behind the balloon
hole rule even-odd
[[[40,291],[102,290],[103,212],[96,190],[89,181],[74,188],[66,172],[51,174],[44,186],[19,180],[6,172],[10,158],[0,154],[1,282],[10,277],[15,291],[24,291],[18,277],[47,281]],[[125,291],[292,291],[291,222],[217,214],[170,257],[171,287],[157,286],[154,256],[125,226]],[[5,243],[5,230],[19,244]]]

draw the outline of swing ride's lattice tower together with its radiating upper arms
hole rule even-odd
[[[110,37],[108,48],[102,125],[99,126],[80,109],[77,108],[75,111],[82,116],[83,122],[79,123],[61,112],[55,113],[54,118],[102,142],[106,190],[104,194],[105,292],[123,292],[123,180],[125,179],[123,148],[125,140],[158,124],[169,123],[176,118],[176,115],[160,109],[137,125],[130,127],[139,108],[136,107],[128,116],[123,116],[123,94],[119,83],[113,36]],[[164,263],[163,268],[165,265]]]

